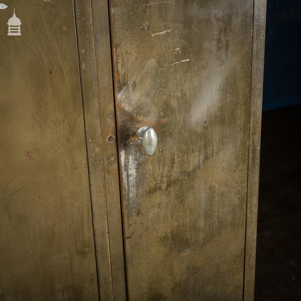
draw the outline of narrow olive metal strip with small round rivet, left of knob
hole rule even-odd
[[[122,210],[120,206],[119,162],[114,107],[111,57],[109,3],[91,1],[94,31],[95,66],[98,83],[98,113],[100,116],[104,183],[106,191],[107,226],[110,248],[113,299],[126,299]]]

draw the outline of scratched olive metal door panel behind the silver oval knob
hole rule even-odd
[[[110,1],[130,301],[243,298],[252,9]]]

